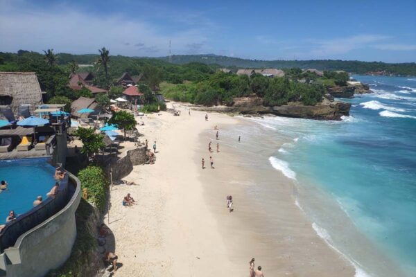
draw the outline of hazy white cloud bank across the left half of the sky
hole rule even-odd
[[[40,10],[26,1],[0,1],[0,51],[53,48],[56,53],[98,53],[105,46],[112,55],[161,56],[168,55],[169,39],[174,53],[189,53],[189,45],[207,41],[201,26],[187,24],[169,31],[139,18],[104,17],[62,5]],[[198,51],[204,47],[201,44]]]

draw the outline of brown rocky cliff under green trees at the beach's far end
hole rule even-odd
[[[275,107],[263,106],[259,97],[234,98],[230,106],[194,107],[200,111],[217,111],[232,114],[274,114],[294,118],[311,118],[318,120],[340,120],[341,116],[349,116],[351,104],[324,99],[315,106],[306,106],[301,102],[290,102],[288,105]]]

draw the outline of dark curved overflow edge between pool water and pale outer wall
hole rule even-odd
[[[51,184],[53,185],[53,184]],[[4,249],[15,245],[17,239],[27,231],[41,224],[58,211],[62,210],[71,199],[76,187],[69,186],[68,174],[60,181],[58,194],[48,197],[41,204],[35,206],[30,211],[19,215],[16,220],[8,222],[0,232],[0,253]]]

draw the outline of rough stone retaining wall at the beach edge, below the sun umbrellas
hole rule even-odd
[[[146,147],[128,150],[125,156],[111,165],[113,180],[119,180],[130,174],[133,166],[143,164],[146,161]],[[105,168],[107,175],[110,175],[110,165]]]

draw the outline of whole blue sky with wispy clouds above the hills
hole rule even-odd
[[[173,55],[416,62],[416,0],[0,0],[2,52],[161,57],[169,41]]]

